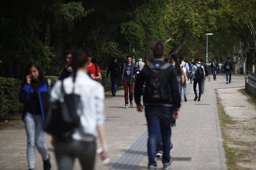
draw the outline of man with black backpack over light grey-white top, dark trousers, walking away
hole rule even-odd
[[[203,83],[203,79],[205,78],[205,72],[204,72],[204,66],[201,65],[200,59],[196,58],[195,61],[196,61],[196,64],[192,67],[192,73],[194,74],[193,89],[196,95],[196,97],[194,98],[194,101],[196,101],[198,98],[198,102],[200,102],[201,93],[202,93],[202,83]],[[197,83],[199,86],[199,97],[197,96],[197,91],[196,91]]]

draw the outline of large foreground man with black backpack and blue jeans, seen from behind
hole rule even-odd
[[[155,57],[152,63],[146,65],[138,74],[135,84],[135,102],[138,112],[142,112],[141,95],[144,81],[145,116],[148,126],[148,169],[155,170],[157,141],[163,143],[163,166],[170,169],[170,137],[171,119],[177,119],[180,108],[178,75],[169,62],[164,61],[165,47],[163,43],[155,44]]]

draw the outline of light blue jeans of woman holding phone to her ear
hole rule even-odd
[[[27,163],[29,169],[35,169],[35,146],[43,160],[48,159],[47,147],[45,145],[46,133],[43,131],[42,116],[27,112],[24,124],[27,133]]]

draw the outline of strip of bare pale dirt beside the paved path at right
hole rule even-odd
[[[239,170],[256,170],[256,104],[250,96],[243,93],[243,89],[217,90],[224,111],[234,120],[221,130],[224,143],[231,150],[229,154],[233,154],[230,155],[234,160],[233,167]]]

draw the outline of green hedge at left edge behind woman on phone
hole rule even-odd
[[[21,81],[0,77],[0,119],[9,114],[19,113],[22,103],[19,101]]]

